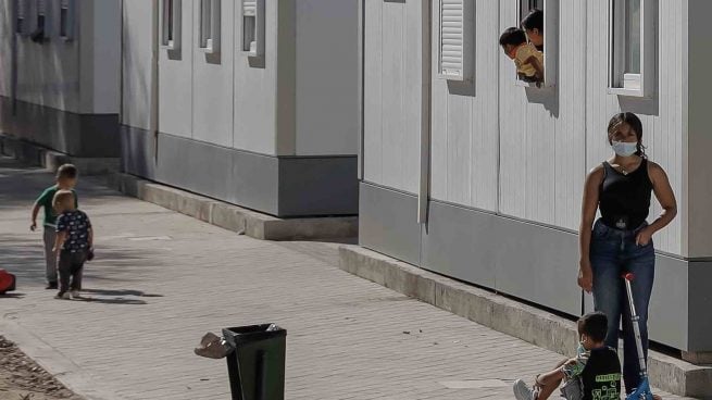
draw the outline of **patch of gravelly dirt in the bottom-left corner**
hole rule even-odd
[[[83,400],[0,336],[0,400]]]

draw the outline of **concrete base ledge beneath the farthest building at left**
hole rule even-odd
[[[62,164],[74,164],[82,175],[103,175],[118,171],[118,158],[73,157],[35,143],[0,134],[0,153],[33,165],[57,171]]]

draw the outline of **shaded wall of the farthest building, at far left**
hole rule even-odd
[[[39,3],[0,1],[2,130],[73,155],[116,157],[120,3],[70,1],[64,37],[61,2],[45,1],[43,39],[35,41]],[[15,4],[25,4],[22,32]]]

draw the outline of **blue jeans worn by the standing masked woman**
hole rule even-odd
[[[648,304],[655,275],[655,250],[652,240],[637,246],[636,235],[647,224],[635,230],[614,229],[600,220],[594,225],[590,260],[594,270],[594,304],[596,311],[608,316],[605,345],[617,349],[619,324],[623,317],[623,380],[630,392],[640,384],[640,364],[630,322],[630,308],[623,282],[624,273],[633,273],[633,300],[640,316],[640,338],[648,359]]]

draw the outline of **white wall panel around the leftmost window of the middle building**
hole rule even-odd
[[[180,47],[159,51],[159,129],[192,137],[193,1],[182,0]]]

